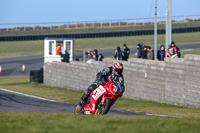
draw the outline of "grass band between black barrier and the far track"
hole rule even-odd
[[[183,43],[199,43],[200,32],[173,34],[172,40],[176,44]],[[153,45],[154,36],[131,36],[131,37],[112,37],[112,38],[91,38],[76,39],[75,50],[93,50],[108,49],[122,46],[126,43],[128,47],[135,47],[138,42],[144,45]],[[158,44],[165,44],[165,35],[158,35]],[[0,42],[0,57],[23,56],[43,54],[44,41],[16,41],[16,42]]]

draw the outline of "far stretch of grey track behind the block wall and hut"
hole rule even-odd
[[[181,50],[200,49],[200,43],[196,44],[181,44],[178,45]],[[136,47],[130,48],[131,54],[136,52]],[[113,57],[115,49],[99,50],[104,57]],[[80,54],[76,52],[75,55]],[[30,70],[39,70],[43,67],[44,58],[43,55],[31,55],[20,56],[10,58],[0,58],[0,65],[2,66],[2,72],[0,76],[28,76]],[[22,72],[22,65],[25,64],[26,71]]]

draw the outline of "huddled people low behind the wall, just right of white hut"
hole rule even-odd
[[[97,49],[95,49],[93,51],[87,51],[85,53],[85,55],[86,55],[86,59],[87,60],[94,59],[95,61],[103,61],[103,58],[104,58],[102,53],[98,54],[98,50]]]

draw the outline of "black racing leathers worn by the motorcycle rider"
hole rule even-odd
[[[109,79],[119,82],[123,94],[123,92],[125,91],[124,77],[122,74],[115,74],[112,69],[113,67],[108,67],[97,73],[96,80],[87,88],[87,90],[81,97],[83,102],[87,101],[88,96],[91,94],[93,90],[95,90],[100,85],[105,85],[106,83],[108,83]]]

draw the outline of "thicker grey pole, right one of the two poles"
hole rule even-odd
[[[166,36],[165,36],[165,48],[168,49],[168,45],[171,43],[172,36],[172,23],[171,23],[171,0],[166,0]],[[167,55],[166,55],[167,56]]]

